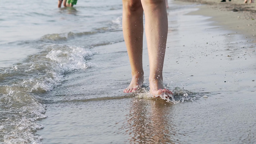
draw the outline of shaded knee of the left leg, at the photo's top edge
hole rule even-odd
[[[137,12],[143,10],[140,0],[122,0],[123,9],[127,12]]]

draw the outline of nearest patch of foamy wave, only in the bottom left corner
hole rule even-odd
[[[4,144],[39,143],[41,138],[34,135],[43,126],[35,121],[44,119],[45,106],[22,88],[6,86],[6,93],[0,95],[0,142]]]

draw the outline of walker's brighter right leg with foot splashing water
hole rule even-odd
[[[142,0],[145,12],[145,31],[149,55],[149,86],[150,93],[158,96],[163,93],[171,94],[164,89],[163,63],[168,33],[168,19],[165,0]]]

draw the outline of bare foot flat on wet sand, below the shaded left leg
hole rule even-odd
[[[144,76],[143,74],[135,74],[132,78],[130,85],[123,90],[124,93],[136,92],[143,84]]]

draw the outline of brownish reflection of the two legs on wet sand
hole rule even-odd
[[[173,104],[163,100],[134,99],[127,115],[126,134],[131,144],[178,144],[174,140],[170,112]]]

